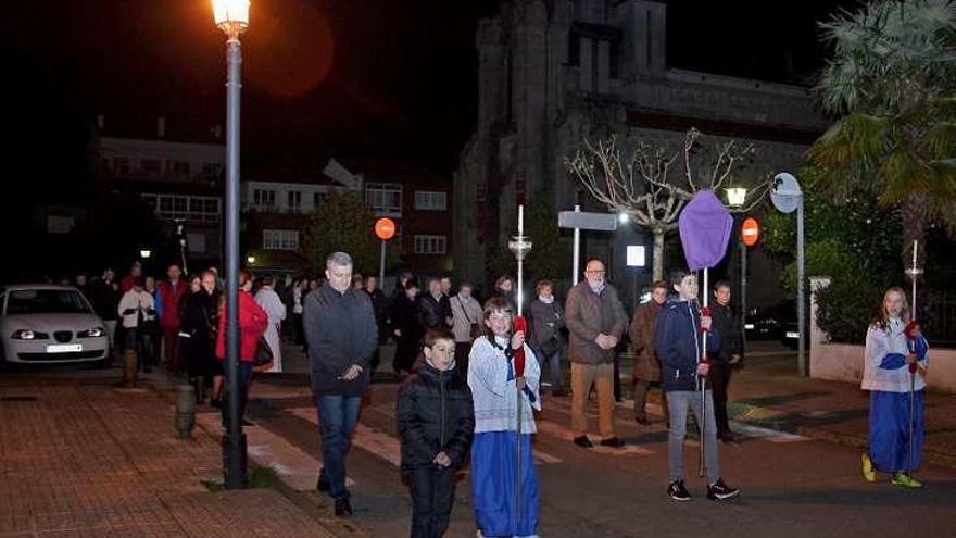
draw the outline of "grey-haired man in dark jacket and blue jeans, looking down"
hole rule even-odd
[[[305,298],[303,326],[309,343],[312,393],[318,408],[324,467],[320,491],[336,502],[336,515],[352,513],[345,489],[345,451],[368,388],[368,363],[378,347],[372,300],[352,288],[352,258],[335,252],[326,260],[328,284]]]

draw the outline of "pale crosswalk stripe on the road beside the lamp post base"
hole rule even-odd
[[[197,422],[207,431],[219,431],[222,418],[218,413],[197,413]],[[291,445],[284,437],[273,434],[266,428],[249,426],[246,433],[249,458],[257,465],[272,467],[282,483],[299,491],[315,488],[322,459],[310,455]],[[345,477],[345,486],[353,487],[355,480]]]

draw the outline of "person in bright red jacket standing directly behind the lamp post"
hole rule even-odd
[[[252,287],[252,275],[246,270],[239,271],[239,416],[246,414],[246,401],[249,398],[249,381],[252,380],[252,373],[255,367],[255,349],[259,345],[259,338],[265,333],[268,326],[268,314],[262,306],[255,302],[255,298],[249,292]],[[226,301],[222,300],[219,305],[219,330],[216,335],[216,358],[219,361],[226,360]],[[226,368],[226,377],[231,373]],[[231,398],[226,384],[226,390],[223,398],[223,425],[228,420],[229,405],[226,404]],[[243,418],[243,426],[250,425]]]

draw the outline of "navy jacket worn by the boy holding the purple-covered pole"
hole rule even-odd
[[[661,388],[665,392],[696,390],[697,354],[703,347],[701,312],[696,304],[669,300],[657,314],[654,335],[657,358],[661,359]],[[707,353],[720,350],[720,333],[710,325]]]

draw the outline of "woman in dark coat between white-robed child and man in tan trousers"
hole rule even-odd
[[[540,280],[534,287],[534,300],[528,308],[531,317],[531,349],[538,358],[538,365],[544,372],[549,366],[551,396],[565,396],[561,380],[561,328],[564,327],[564,311],[554,300],[554,285],[551,280]],[[543,384],[542,384],[543,385]]]

